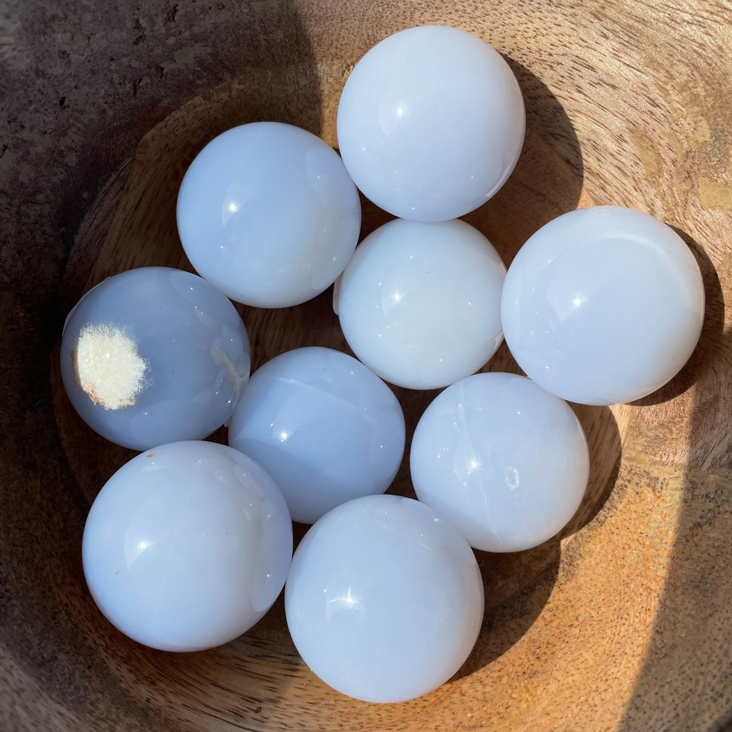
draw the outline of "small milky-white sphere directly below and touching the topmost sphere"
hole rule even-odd
[[[378,376],[437,389],[477,371],[501,344],[506,268],[464,221],[397,219],[356,249],[335,307],[348,345]]]

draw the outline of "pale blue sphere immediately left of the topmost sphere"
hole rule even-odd
[[[298,305],[332,285],[360,227],[358,192],[340,157],[279,122],[214,138],[178,195],[178,232],[196,272],[256,307]]]

